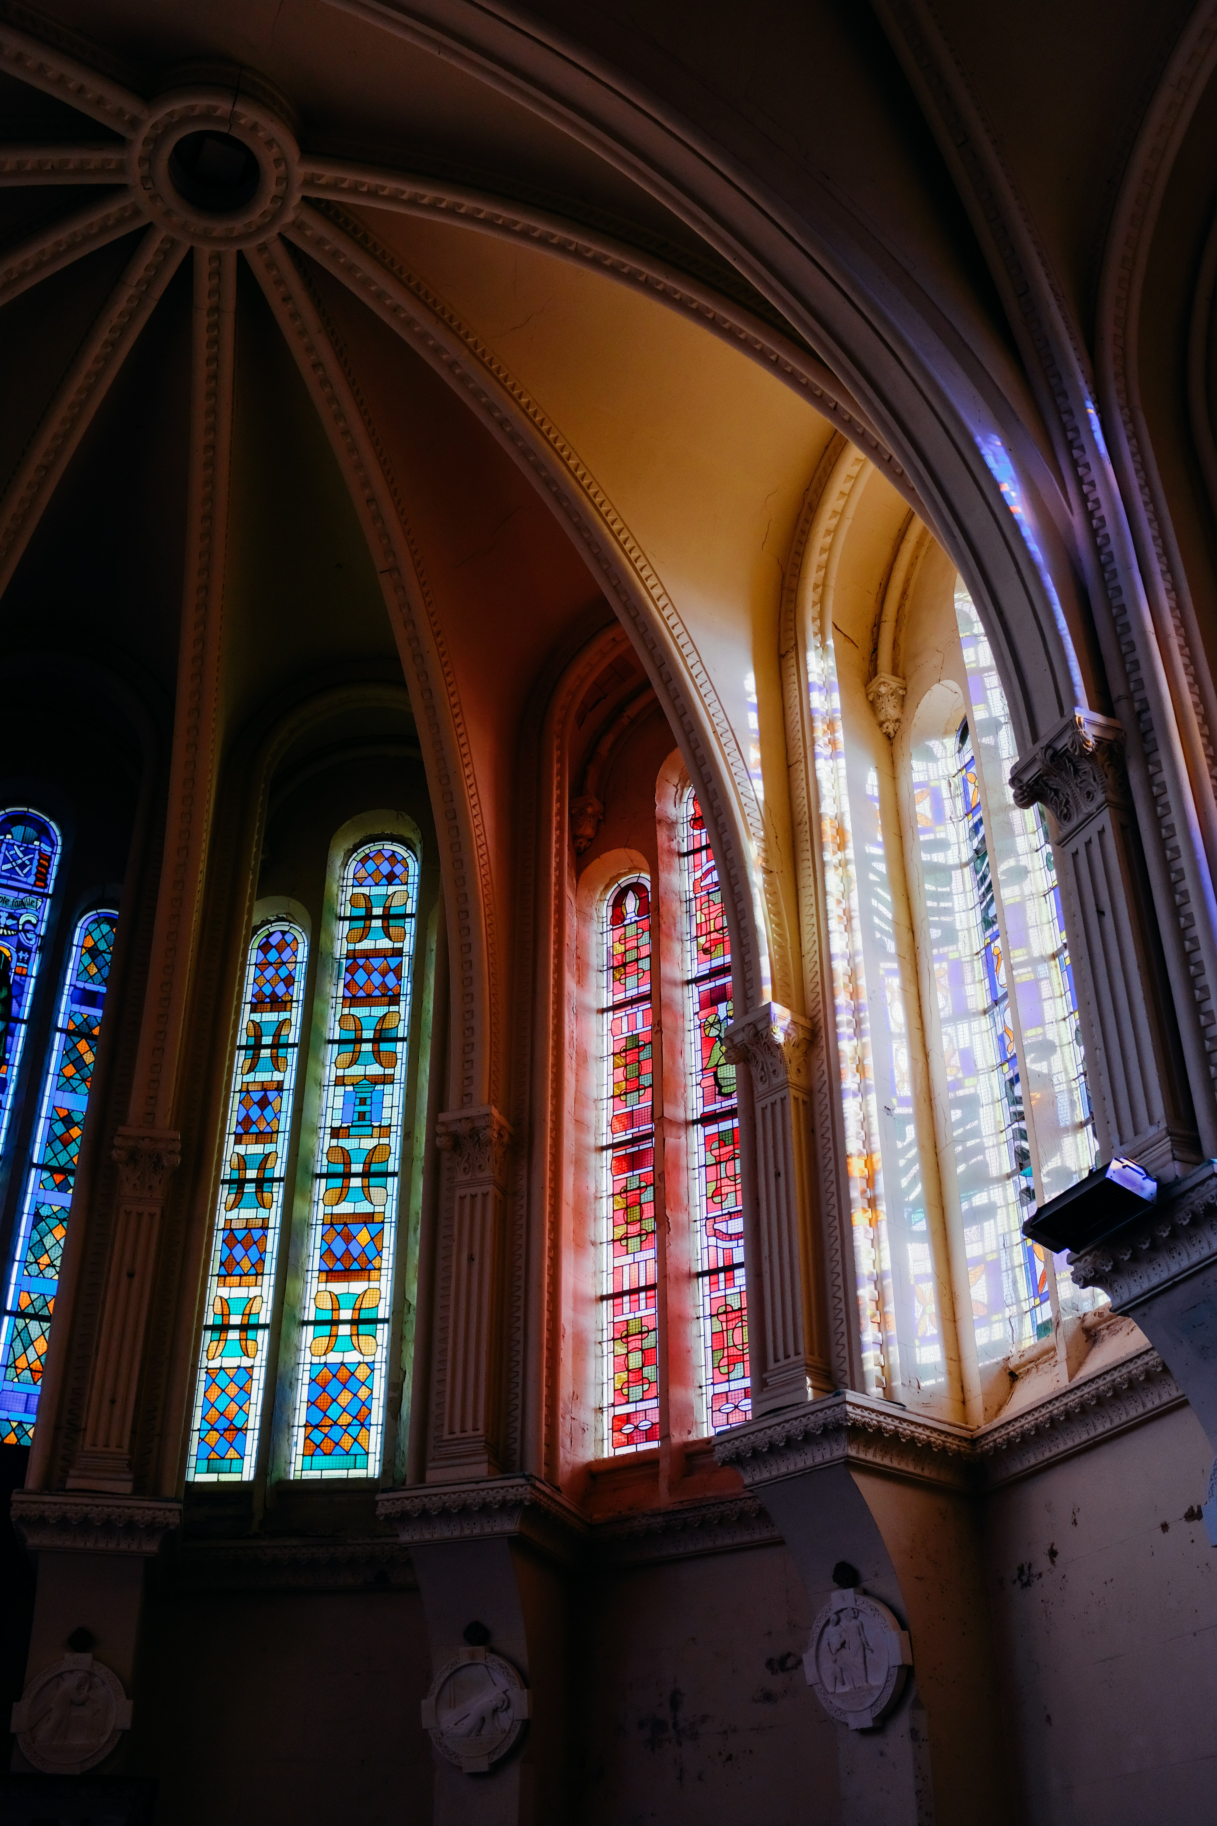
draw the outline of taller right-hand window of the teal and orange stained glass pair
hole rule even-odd
[[[358,849],[338,898],[294,1477],[380,1474],[416,909],[411,851]]]

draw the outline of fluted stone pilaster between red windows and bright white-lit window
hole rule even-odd
[[[812,1024],[765,1002],[726,1030],[755,1101],[759,1262],[748,1262],[754,1411],[832,1388],[825,1286],[814,1223]]]

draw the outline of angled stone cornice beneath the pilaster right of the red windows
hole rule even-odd
[[[896,1472],[918,1483],[967,1486],[973,1435],[945,1421],[912,1417],[870,1395],[839,1391],[786,1408],[715,1443],[750,1488],[825,1464]]]

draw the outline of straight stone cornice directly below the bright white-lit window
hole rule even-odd
[[[1011,1421],[982,1428],[973,1443],[982,1481],[987,1488],[1013,1483],[1155,1413],[1181,1408],[1184,1401],[1159,1353],[1137,1351],[1111,1370],[1080,1377]]]

